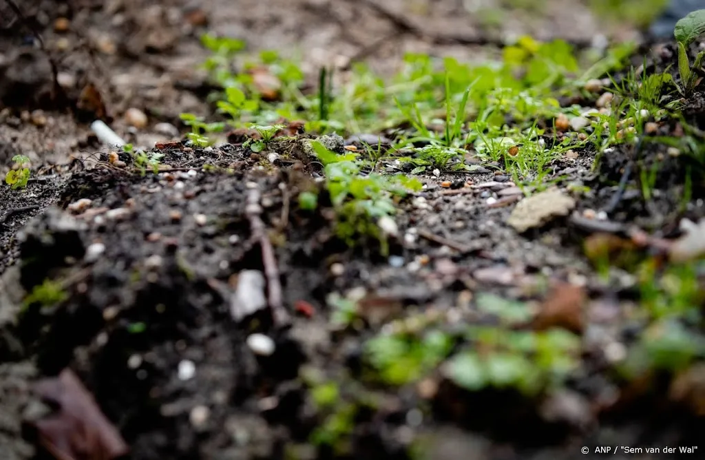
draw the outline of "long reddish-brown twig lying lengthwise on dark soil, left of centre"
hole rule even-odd
[[[264,222],[262,222],[261,217],[262,205],[259,204],[261,195],[259,188],[250,189],[250,193],[247,195],[245,215],[250,221],[252,239],[257,241],[260,248],[262,248],[262,265],[264,265],[264,276],[267,282],[267,300],[274,318],[274,324],[278,327],[283,327],[290,323],[290,318],[283,305],[279,268],[274,257],[274,248],[272,248],[271,241],[269,241],[269,237],[264,231]]]

